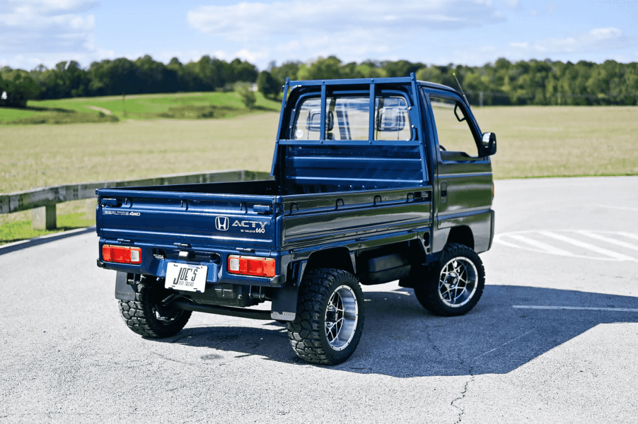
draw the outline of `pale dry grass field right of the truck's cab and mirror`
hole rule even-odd
[[[497,134],[494,177],[638,175],[638,107],[475,108]]]

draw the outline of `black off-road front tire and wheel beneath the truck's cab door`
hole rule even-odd
[[[485,288],[480,257],[470,247],[456,243],[446,245],[439,260],[424,267],[417,278],[421,278],[414,285],[417,300],[432,314],[443,317],[470,312]]]

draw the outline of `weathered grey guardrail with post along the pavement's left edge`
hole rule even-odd
[[[31,225],[38,230],[56,228],[56,205],[66,201],[93,199],[95,189],[105,187],[135,187],[168,184],[195,184],[206,182],[253,181],[270,179],[269,172],[248,170],[211,171],[194,174],[175,174],[163,177],[132,179],[127,181],[85,182],[64,184],[11,194],[0,194],[0,213],[33,209]]]

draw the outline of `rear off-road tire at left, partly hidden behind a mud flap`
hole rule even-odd
[[[145,276],[146,277],[146,276]],[[161,305],[173,294],[153,277],[132,284],[135,300],[120,300],[120,312],[129,329],[140,336],[166,338],[175,336],[188,322],[192,312]]]

